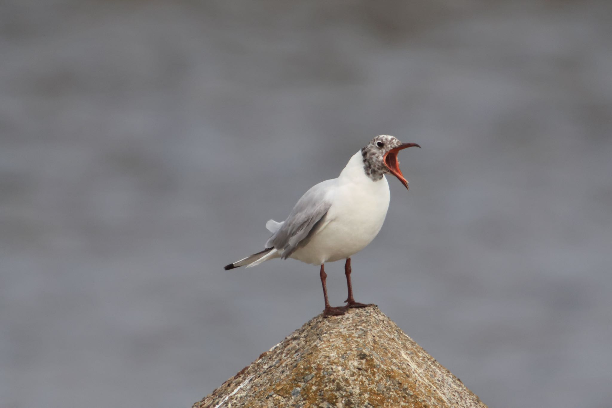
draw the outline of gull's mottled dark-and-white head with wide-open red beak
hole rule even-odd
[[[401,149],[412,146],[420,147],[416,143],[401,143],[395,136],[376,136],[361,149],[365,174],[372,180],[380,180],[384,174],[391,173],[408,188],[408,181],[401,174],[397,154]]]

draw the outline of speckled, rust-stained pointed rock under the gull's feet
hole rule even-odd
[[[314,317],[193,407],[486,408],[376,306]]]

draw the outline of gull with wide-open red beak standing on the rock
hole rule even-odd
[[[395,136],[378,135],[346,163],[340,176],[325,180],[306,191],[285,221],[269,220],[272,233],[264,250],[247,256],[225,270],[259,265],[274,258],[297,259],[319,266],[325,308],[323,316],[345,314],[349,308],[369,306],[355,302],[351,283],[351,256],[378,235],[389,209],[389,184],[392,174],[408,189],[397,154],[416,143],[401,143]],[[327,297],[324,264],[345,259],[348,297],[345,306],[331,307]]]

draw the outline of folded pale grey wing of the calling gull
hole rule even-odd
[[[281,258],[286,259],[308,242],[332,206],[330,195],[335,183],[336,179],[325,180],[306,191],[282,226],[267,240],[266,248],[276,248]]]

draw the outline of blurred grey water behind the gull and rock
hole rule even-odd
[[[610,1],[0,7],[0,407],[214,390],[323,309],[223,265],[381,133],[356,299],[491,407],[612,406]]]

